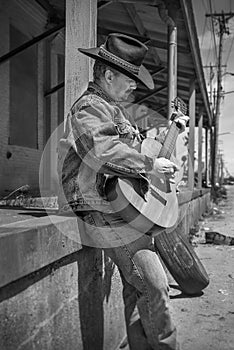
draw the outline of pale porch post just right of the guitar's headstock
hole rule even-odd
[[[189,94],[189,147],[188,147],[188,188],[193,190],[194,187],[194,134],[195,134],[195,103],[196,103],[196,90],[195,82],[192,81],[190,85]]]

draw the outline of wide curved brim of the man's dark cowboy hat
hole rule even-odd
[[[132,72],[129,72],[127,69],[125,69],[117,64],[114,64],[113,62],[110,62],[106,57],[100,56],[100,54],[99,54],[100,48],[99,47],[93,47],[90,49],[78,48],[78,50],[81,53],[83,53],[84,55],[89,56],[95,60],[102,61],[102,62],[106,63],[108,66],[116,69],[120,73],[125,74],[128,77],[130,77],[131,79],[136,80],[136,81],[144,84],[148,89],[150,89],[150,90],[154,89],[153,78],[152,78],[151,74],[149,73],[149,71],[143,65],[140,66],[138,74],[134,74]]]

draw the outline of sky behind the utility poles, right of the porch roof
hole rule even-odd
[[[230,13],[234,15],[234,0],[192,0],[197,34],[201,48],[203,66],[217,65],[219,51],[218,25],[213,21],[215,35],[212,35],[211,18],[206,17],[210,13]],[[211,7],[210,7],[211,6]],[[225,92],[221,103],[221,116],[219,122],[219,149],[223,154],[225,167],[234,176],[234,17],[227,22],[229,35],[224,34],[222,64],[223,67],[222,86]],[[216,42],[216,49],[215,49]],[[217,52],[217,55],[216,55]],[[215,71],[216,73],[217,71]],[[210,91],[209,77],[210,69],[204,68],[207,81],[207,89]],[[212,80],[213,88],[217,90],[217,75]],[[227,93],[233,91],[233,93]]]

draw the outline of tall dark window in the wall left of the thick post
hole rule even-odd
[[[29,39],[10,26],[10,50]],[[38,73],[37,45],[10,59],[10,130],[9,144],[38,148]]]

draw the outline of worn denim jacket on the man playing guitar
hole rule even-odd
[[[108,176],[145,178],[151,158],[137,151],[138,130],[126,109],[95,83],[73,104],[58,147],[60,211],[112,212],[104,191]]]

